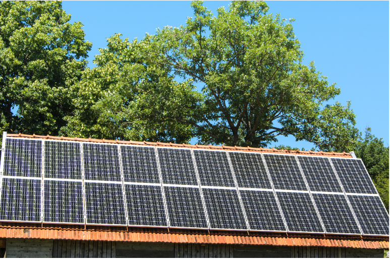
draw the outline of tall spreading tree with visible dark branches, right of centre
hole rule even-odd
[[[192,126],[202,144],[266,147],[293,135],[321,150],[353,148],[350,103],[327,104],[340,89],[328,85],[314,62],[302,64],[291,21],[267,15],[264,2],[232,2],[217,17],[202,2],[191,6],[194,18],[186,25],[158,29],[140,42],[144,62],[203,85],[196,111],[164,120]]]

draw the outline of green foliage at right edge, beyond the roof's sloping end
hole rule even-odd
[[[388,147],[384,147],[382,138],[375,138],[367,127],[364,137],[359,138],[355,155],[362,159],[388,212]]]

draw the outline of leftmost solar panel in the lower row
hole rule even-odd
[[[41,179],[2,180],[0,220],[41,222]]]

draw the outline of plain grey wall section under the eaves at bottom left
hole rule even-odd
[[[53,240],[8,238],[6,257],[52,257]]]

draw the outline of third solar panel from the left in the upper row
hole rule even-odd
[[[122,181],[117,145],[83,143],[86,180]]]

